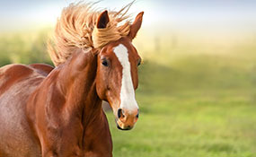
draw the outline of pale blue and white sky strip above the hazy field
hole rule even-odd
[[[0,31],[53,26],[72,0],[0,0]],[[77,2],[77,1],[76,1]],[[91,1],[95,2],[95,1]],[[97,7],[117,9],[128,0],[102,0]],[[137,0],[129,13],[144,11],[146,28],[207,31],[255,31],[254,0]],[[162,29],[163,28],[163,29]]]

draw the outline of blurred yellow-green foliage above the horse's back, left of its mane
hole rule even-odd
[[[47,53],[49,30],[1,32],[0,66],[8,64],[52,64]]]

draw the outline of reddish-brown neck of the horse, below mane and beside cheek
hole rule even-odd
[[[58,74],[59,87],[66,98],[66,110],[79,113],[84,126],[101,118],[102,100],[96,92],[97,57],[93,53],[76,51]],[[73,113],[70,113],[73,114]]]

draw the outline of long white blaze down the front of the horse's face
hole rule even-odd
[[[128,61],[128,48],[122,44],[119,44],[119,46],[114,48],[114,53],[118,57],[120,64],[123,66],[120,92],[120,108],[129,110],[138,109],[131,78],[130,63]]]

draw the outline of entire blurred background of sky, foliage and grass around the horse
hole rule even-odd
[[[0,0],[0,65],[52,64],[46,41],[69,0]],[[93,2],[93,1],[91,1]],[[130,1],[102,0],[119,10]],[[140,118],[114,156],[256,157],[256,1],[137,0]]]

